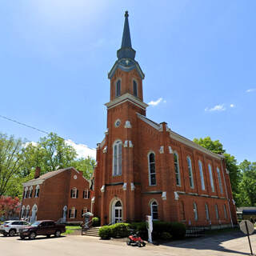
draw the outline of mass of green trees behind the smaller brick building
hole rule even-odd
[[[74,166],[90,178],[94,159],[76,157],[74,147],[54,133],[30,143],[0,134],[0,196],[22,198],[22,183],[34,178],[37,166],[41,167],[41,174]]]

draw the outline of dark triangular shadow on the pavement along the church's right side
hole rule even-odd
[[[223,253],[230,253],[230,254],[242,254],[248,255],[249,254],[249,245],[248,245],[248,253],[243,253],[238,250],[230,250],[226,249],[222,246],[222,242],[227,242],[237,238],[245,238],[246,236],[242,234],[241,231],[235,231],[228,234],[218,234],[214,236],[206,236],[201,238],[189,238],[186,240],[174,241],[174,242],[167,242],[162,244],[163,246],[170,246],[176,248],[186,248],[186,249],[195,249],[195,250],[215,250],[220,251]],[[245,240],[245,243],[247,241]]]

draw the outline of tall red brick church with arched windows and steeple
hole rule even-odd
[[[111,68],[105,138],[97,145],[94,216],[101,224],[154,220],[233,225],[236,210],[224,157],[146,118],[144,74],[131,46],[128,12]]]

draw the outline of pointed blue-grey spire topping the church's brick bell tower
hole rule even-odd
[[[129,22],[128,22],[128,11],[126,10],[125,14],[125,24],[123,27],[122,32],[122,46],[121,49],[118,50],[118,59],[121,58],[135,58],[135,50],[131,47],[131,41],[130,41],[130,28],[129,28]]]

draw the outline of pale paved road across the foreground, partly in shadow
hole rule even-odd
[[[251,242],[256,253],[256,234]],[[166,245],[147,245],[143,248],[126,246],[125,242],[102,241],[98,238],[70,235],[62,238],[38,237],[35,240],[20,240],[18,237],[0,237],[0,252],[4,256],[220,256],[248,255],[247,238],[241,232],[221,234],[206,238],[170,242]]]

